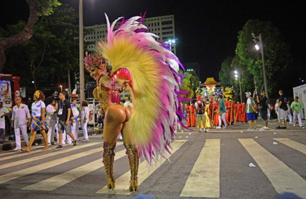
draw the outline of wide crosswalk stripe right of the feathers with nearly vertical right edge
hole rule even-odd
[[[207,139],[181,192],[181,197],[219,197],[220,139]]]

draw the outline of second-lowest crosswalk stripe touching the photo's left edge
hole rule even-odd
[[[89,144],[86,144],[86,145],[79,145],[79,146],[76,146],[76,147],[73,147],[73,148],[68,148],[68,149],[64,148],[61,151],[57,151],[57,152],[54,151],[54,152],[51,152],[51,153],[46,153],[46,154],[43,154],[43,155],[40,155],[40,156],[35,156],[35,157],[27,158],[27,159],[24,159],[24,160],[19,160],[19,161],[7,163],[7,164],[2,164],[2,165],[0,165],[0,169],[5,169],[7,167],[13,167],[13,166],[17,166],[17,165],[20,165],[20,164],[32,162],[32,161],[35,161],[35,160],[40,160],[40,159],[43,159],[43,158],[56,156],[56,155],[59,155],[59,154],[62,154],[62,153],[74,151],[74,150],[77,150],[77,149],[80,149],[80,148],[85,148],[85,147],[89,147],[89,146],[93,146],[93,145],[101,145],[101,143],[100,142],[93,142],[93,143],[89,143]]]

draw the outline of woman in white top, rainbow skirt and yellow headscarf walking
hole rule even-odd
[[[40,134],[42,134],[43,136],[43,141],[45,142],[45,147],[43,148],[43,151],[49,149],[47,135],[45,131],[49,128],[45,118],[46,105],[43,102],[45,100],[45,95],[41,91],[35,91],[33,99],[35,100],[35,102],[32,103],[32,122],[30,126],[31,138],[28,147],[21,148],[21,151],[24,152],[30,152],[31,146],[35,140],[37,130],[40,131]]]

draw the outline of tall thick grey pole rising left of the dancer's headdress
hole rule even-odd
[[[85,100],[84,93],[84,35],[83,35],[83,0],[79,0],[79,53],[80,53],[80,104]]]

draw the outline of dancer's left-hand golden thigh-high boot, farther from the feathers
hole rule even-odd
[[[113,147],[110,147],[110,144],[108,144],[107,142],[104,142],[103,144],[103,148],[104,148],[103,163],[104,163],[104,168],[106,172],[107,187],[112,190],[115,188],[115,178],[114,178],[114,173],[113,173],[115,147],[116,145],[114,145]]]

